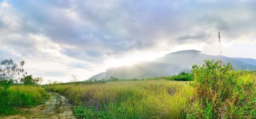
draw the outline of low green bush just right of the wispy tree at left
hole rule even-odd
[[[20,83],[24,83],[24,85],[34,85],[41,83],[43,81],[43,77],[32,77],[32,75],[23,77],[20,79]]]

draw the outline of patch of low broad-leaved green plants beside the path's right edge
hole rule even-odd
[[[105,111],[99,111],[93,107],[78,106],[74,108],[73,112],[78,119],[113,119]]]

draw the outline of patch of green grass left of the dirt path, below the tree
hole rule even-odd
[[[47,94],[40,86],[11,86],[0,91],[0,114],[17,113],[17,108],[41,104]]]

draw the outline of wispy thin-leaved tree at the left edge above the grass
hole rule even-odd
[[[15,64],[12,59],[6,59],[0,62],[0,90],[8,89],[13,82],[18,82],[22,75],[26,75],[23,69],[25,61],[20,61],[20,65]]]

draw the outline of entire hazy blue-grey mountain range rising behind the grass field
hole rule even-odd
[[[207,55],[198,50],[183,50],[169,53],[153,61],[139,61],[134,65],[111,67],[106,72],[94,75],[93,79],[109,79],[111,76],[120,79],[149,78],[175,75],[179,72],[189,72],[194,64],[202,65],[205,59],[219,60],[219,55]],[[222,61],[229,61],[236,70],[256,70],[256,60],[252,58],[230,58],[222,56]]]

